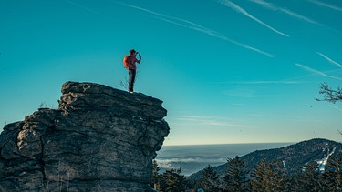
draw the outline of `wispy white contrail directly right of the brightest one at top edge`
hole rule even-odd
[[[283,12],[285,13],[286,15],[291,15],[297,19],[300,19],[300,20],[303,20],[303,21],[306,21],[308,23],[311,23],[311,24],[315,24],[315,25],[321,25],[319,24],[318,22],[312,20],[312,19],[309,19],[307,18],[306,16],[304,15],[300,15],[300,14],[297,14],[291,10],[288,10],[286,8],[282,8],[282,7],[279,7],[279,6],[276,6],[276,5],[273,5],[271,3],[268,3],[268,2],[265,2],[264,0],[250,0],[251,2],[254,2],[255,4],[258,4],[258,5],[263,5],[265,8],[268,8],[270,10],[273,10],[273,11],[279,11],[279,12]]]

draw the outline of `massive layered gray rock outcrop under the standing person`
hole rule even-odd
[[[0,135],[0,191],[150,191],[152,159],[170,128],[162,101],[67,82]]]

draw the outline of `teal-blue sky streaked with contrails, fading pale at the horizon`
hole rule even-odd
[[[141,53],[135,91],[164,101],[165,145],[341,141],[340,0],[0,0],[0,127],[66,81],[119,89]]]

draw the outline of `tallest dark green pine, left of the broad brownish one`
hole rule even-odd
[[[248,180],[246,179],[247,166],[240,157],[227,159],[227,170],[223,177],[223,191],[249,191]]]

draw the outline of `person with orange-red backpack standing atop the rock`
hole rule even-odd
[[[139,56],[139,60],[136,58],[136,56]],[[140,64],[141,61],[141,56],[139,52],[136,52],[134,49],[130,50],[130,55],[125,56],[123,58],[123,65],[125,68],[129,70],[129,76],[130,76],[130,82],[129,82],[129,92],[133,93],[133,86],[134,86],[134,81],[135,81],[135,75],[137,72],[137,66],[135,63]]]

